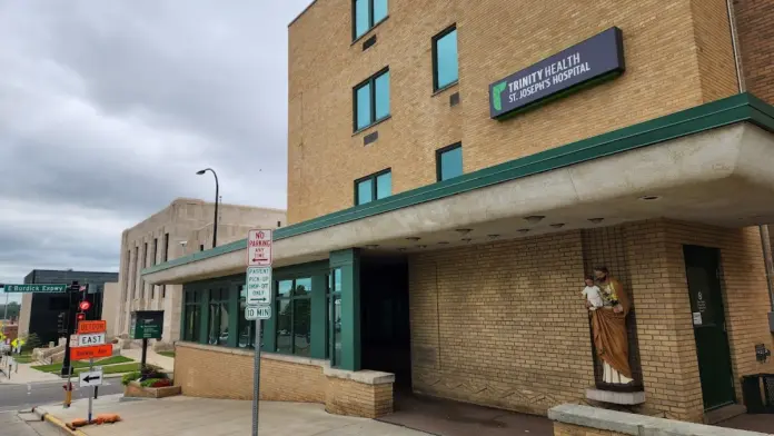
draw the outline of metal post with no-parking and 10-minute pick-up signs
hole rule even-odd
[[[252,436],[258,436],[260,405],[260,321],[271,317],[271,230],[255,229],[247,234],[247,307],[245,318],[256,321],[252,365]]]

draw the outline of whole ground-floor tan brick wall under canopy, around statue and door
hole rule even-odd
[[[771,361],[755,361],[754,345],[774,348],[757,228],[666,220],[411,257],[414,389],[538,414],[560,403],[585,402],[594,365],[579,290],[592,265],[607,265],[634,300],[631,330],[638,347],[631,360],[635,370],[641,367],[635,378],[642,377],[646,394],[645,405],[636,410],[701,422],[702,385],[683,245],[721,250],[741,400],[743,375],[772,370]]]

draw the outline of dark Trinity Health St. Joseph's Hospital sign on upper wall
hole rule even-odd
[[[613,27],[489,85],[489,115],[499,119],[625,70],[621,29]]]

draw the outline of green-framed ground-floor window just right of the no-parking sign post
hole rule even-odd
[[[277,281],[277,353],[309,357],[311,278]]]

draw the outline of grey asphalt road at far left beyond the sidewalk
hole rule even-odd
[[[78,387],[77,380],[73,378],[72,399],[88,398],[91,394],[91,388]],[[60,403],[64,399],[66,380],[30,383],[27,385],[11,385],[7,383],[0,384],[0,413],[29,409],[33,406],[42,406],[44,404]],[[108,378],[102,386],[99,387],[99,395],[120,394],[123,392],[120,378]],[[0,433],[2,435],[2,433]]]

